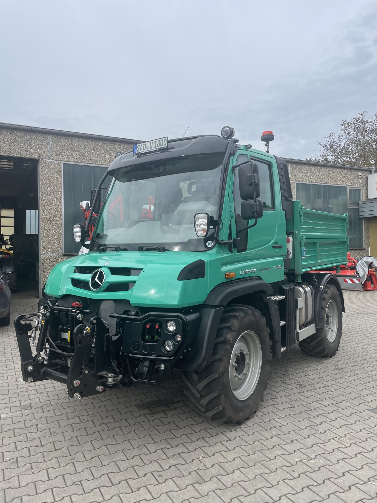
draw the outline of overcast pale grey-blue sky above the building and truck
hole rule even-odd
[[[377,3],[0,0],[0,122],[305,158],[377,112]]]

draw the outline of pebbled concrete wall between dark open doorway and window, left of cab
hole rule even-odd
[[[131,148],[127,141],[0,128],[0,154],[39,159],[42,284],[52,267],[68,258],[62,244],[62,162],[109,165],[116,152]]]

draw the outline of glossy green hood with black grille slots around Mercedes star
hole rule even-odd
[[[206,262],[206,277],[178,281],[181,270],[199,259]],[[58,298],[70,294],[126,299],[138,307],[192,306],[203,303],[208,295],[208,261],[207,253],[197,252],[91,252],[57,264],[47,279],[45,293]],[[97,269],[105,273],[105,282],[92,291],[89,280]]]

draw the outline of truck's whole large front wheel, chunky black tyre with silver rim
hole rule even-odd
[[[209,419],[241,424],[258,409],[271,359],[269,329],[261,313],[249,306],[228,306],[211,362],[201,371],[183,373],[184,393]]]

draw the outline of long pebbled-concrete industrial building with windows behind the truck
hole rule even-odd
[[[15,234],[21,288],[42,285],[55,264],[78,253],[72,225],[82,222],[79,202],[90,198],[116,153],[129,151],[137,142],[0,123],[2,232],[6,238]],[[307,208],[348,213],[352,255],[376,256],[377,240],[370,238],[369,228],[377,221],[377,210],[359,215],[374,168],[291,158],[287,162],[294,197]]]

